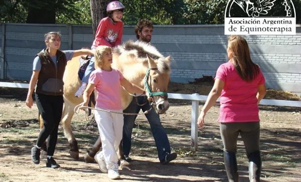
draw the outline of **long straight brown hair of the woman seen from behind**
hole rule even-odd
[[[252,62],[249,45],[242,36],[230,35],[228,47],[233,53],[233,64],[240,78],[246,82],[252,81],[259,73],[259,66]]]

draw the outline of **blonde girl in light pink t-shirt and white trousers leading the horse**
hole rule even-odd
[[[112,50],[108,46],[99,46],[95,50],[95,70],[91,73],[89,83],[84,91],[83,106],[88,105],[94,88],[97,90],[96,108],[121,114],[95,110],[95,120],[100,132],[102,151],[94,159],[100,170],[108,173],[110,179],[120,178],[118,173],[117,149],[122,139],[123,115],[120,85],[128,92],[144,94],[144,90],[127,81],[117,69],[111,67]]]

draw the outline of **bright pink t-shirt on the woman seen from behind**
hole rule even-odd
[[[219,122],[260,121],[256,94],[258,85],[265,83],[260,69],[254,80],[246,82],[228,62],[218,67],[215,79],[225,82],[219,101]]]

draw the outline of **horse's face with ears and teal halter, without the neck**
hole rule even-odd
[[[152,59],[148,57],[148,70],[144,79],[145,89],[154,103],[156,112],[164,114],[169,108],[167,101],[167,86],[170,80],[170,57],[161,57]]]

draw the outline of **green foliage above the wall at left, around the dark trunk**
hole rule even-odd
[[[89,0],[1,0],[0,22],[25,23],[28,11],[40,7],[54,9],[56,23],[91,24]]]

